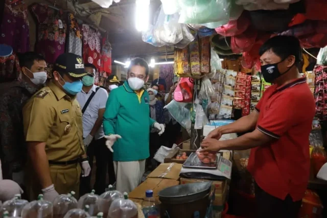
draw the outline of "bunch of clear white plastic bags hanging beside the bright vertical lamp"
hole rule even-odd
[[[162,6],[157,11],[154,25],[142,33],[142,40],[154,46],[175,45],[182,49],[194,36],[186,25],[178,23],[179,14],[166,15]]]

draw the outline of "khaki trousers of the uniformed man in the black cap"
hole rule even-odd
[[[69,165],[52,165],[50,164],[50,176],[56,191],[59,195],[75,191],[74,197],[79,199],[81,166],[79,163]],[[36,200],[37,196],[42,193],[41,185],[38,182],[34,172],[29,172],[27,177],[27,192],[29,200]]]

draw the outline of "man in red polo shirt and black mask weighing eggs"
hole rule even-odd
[[[276,36],[260,49],[261,74],[273,83],[248,116],[219,127],[201,143],[203,151],[251,149],[248,170],[255,180],[258,217],[296,218],[310,172],[309,133],[313,94],[298,71],[301,47],[293,36]],[[222,134],[246,133],[218,141]]]

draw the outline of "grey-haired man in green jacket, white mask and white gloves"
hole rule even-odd
[[[103,115],[106,146],[113,152],[116,189],[122,192],[141,183],[149,157],[150,129],[156,128],[159,135],[165,131],[163,124],[150,118],[149,94],[143,88],[149,79],[148,63],[133,59],[127,77],[124,85],[111,90]]]

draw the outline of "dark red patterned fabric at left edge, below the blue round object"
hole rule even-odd
[[[19,67],[18,57],[15,54],[7,57],[0,57],[0,82],[10,82],[19,80],[21,71]]]

